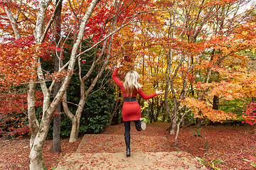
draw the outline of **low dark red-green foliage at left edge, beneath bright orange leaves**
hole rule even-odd
[[[21,137],[29,135],[27,118],[27,94],[24,87],[12,89],[10,93],[1,92],[0,96],[0,136]],[[41,107],[43,94],[36,91],[36,107]]]

